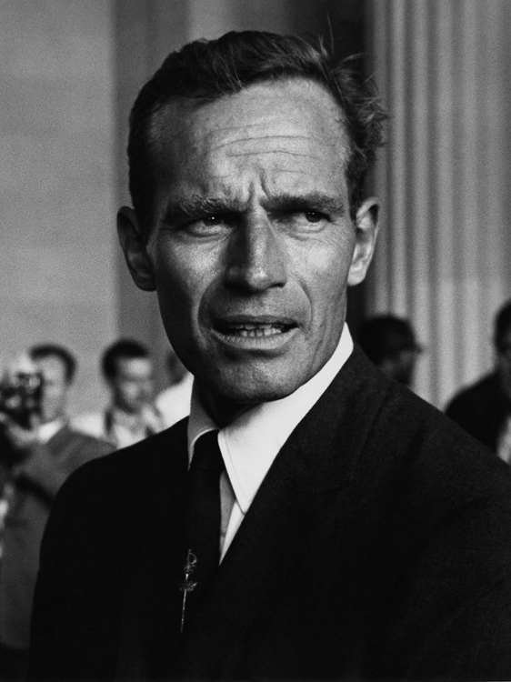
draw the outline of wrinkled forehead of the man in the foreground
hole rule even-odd
[[[204,171],[211,155],[243,157],[265,167],[279,156],[325,159],[346,170],[348,139],[332,95],[304,79],[250,85],[213,102],[179,99],[155,115],[153,157],[158,176]],[[216,168],[218,171],[218,168]]]

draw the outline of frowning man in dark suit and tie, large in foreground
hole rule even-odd
[[[383,118],[323,50],[262,33],[186,45],[142,89],[119,234],[191,414],[62,489],[32,677],[511,676],[511,472],[345,324]]]

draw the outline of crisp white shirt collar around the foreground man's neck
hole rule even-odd
[[[294,393],[280,400],[247,409],[232,424],[219,430],[218,445],[238,505],[245,513],[273,464],[280,448],[318,398],[326,391],[353,351],[353,340],[345,324],[333,355],[315,376]],[[217,429],[192,391],[188,421],[188,458],[191,461],[198,438]]]

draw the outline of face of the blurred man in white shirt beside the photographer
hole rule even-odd
[[[114,405],[138,414],[153,398],[153,363],[148,357],[118,358],[110,379]]]

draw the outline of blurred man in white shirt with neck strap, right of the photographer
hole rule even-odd
[[[155,368],[149,350],[138,341],[120,339],[101,361],[110,404],[101,412],[76,416],[75,428],[104,438],[116,448],[131,446],[165,428],[154,404]]]

